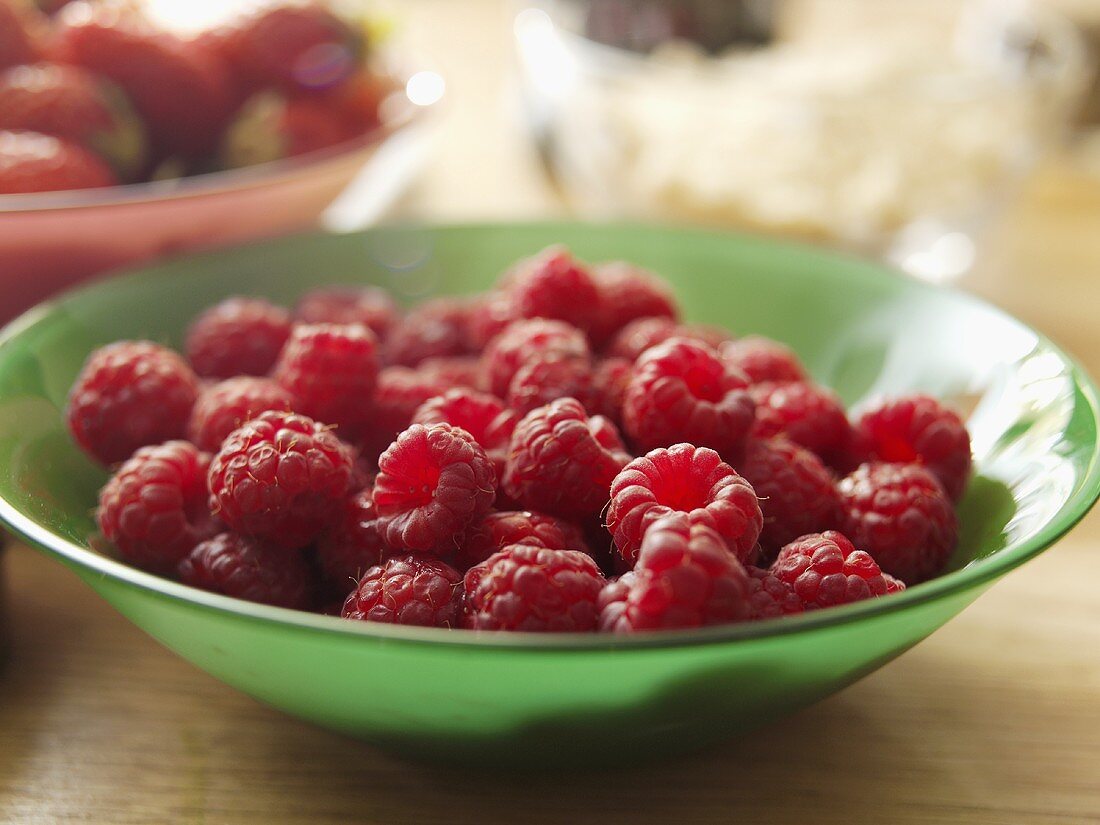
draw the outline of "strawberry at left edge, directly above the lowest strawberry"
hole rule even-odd
[[[77,66],[38,63],[0,73],[0,129],[67,138],[102,155],[124,180],[145,161],[145,132],[125,96]]]

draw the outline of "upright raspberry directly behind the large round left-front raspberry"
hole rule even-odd
[[[302,413],[354,435],[371,417],[377,345],[361,323],[295,327],[275,364],[275,381],[294,393]]]

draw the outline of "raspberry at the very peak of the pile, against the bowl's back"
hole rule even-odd
[[[600,290],[569,251],[551,246],[512,273],[513,311],[520,318],[553,318],[587,331],[600,315]]]

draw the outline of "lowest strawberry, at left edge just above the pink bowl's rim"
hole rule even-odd
[[[0,195],[117,183],[110,167],[78,143],[37,132],[0,132]]]

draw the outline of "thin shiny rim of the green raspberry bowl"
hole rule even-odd
[[[998,552],[982,559],[977,559],[959,570],[954,570],[927,582],[908,587],[901,593],[891,594],[888,598],[871,598],[856,602],[854,604],[832,607],[822,610],[811,610],[795,616],[784,616],[779,618],[763,619],[759,622],[745,622],[732,625],[718,625],[714,627],[648,631],[634,635],[613,634],[537,634],[537,632],[477,632],[464,631],[455,632],[450,629],[406,627],[402,625],[387,625],[383,623],[349,622],[339,616],[327,616],[304,610],[294,610],[285,607],[273,607],[270,605],[245,602],[230,596],[190,587],[179,582],[147,573],[132,568],[121,561],[117,561],[107,556],[102,556],[95,550],[81,547],[68,539],[57,536],[45,527],[35,524],[31,518],[24,516],[7,498],[0,497],[0,522],[6,524],[22,539],[36,546],[47,553],[58,558],[77,571],[78,574],[92,574],[97,578],[111,579],[117,583],[127,585],[140,591],[152,592],[160,596],[166,596],[174,602],[185,603],[188,606],[199,607],[217,613],[229,613],[238,618],[248,619],[262,624],[276,624],[288,630],[317,634],[340,634],[348,638],[362,637],[371,638],[375,641],[387,644],[414,644],[444,647],[472,647],[477,649],[507,649],[538,651],[595,651],[615,649],[626,652],[628,650],[648,650],[652,648],[686,647],[696,645],[708,645],[726,641],[750,641],[766,640],[790,634],[818,630],[823,628],[846,625],[851,622],[881,617],[887,614],[900,614],[905,609],[926,605],[934,601],[958,595],[966,591],[981,587],[993,580],[1008,573],[1014,568],[1035,558],[1041,552],[1050,547],[1066,532],[1068,532],[1078,521],[1080,521],[1100,498],[1100,393],[1096,384],[1080,366],[1080,364],[1062,348],[1050,341],[1046,336],[1036,331],[1031,326],[1016,319],[1009,312],[989,304],[981,298],[969,295],[956,287],[941,284],[930,284],[915,280],[900,272],[897,272],[886,264],[873,262],[851,253],[824,249],[813,244],[796,241],[780,241],[773,238],[754,235],[749,233],[718,231],[707,228],[678,227],[670,224],[656,224],[652,222],[637,221],[613,221],[604,223],[585,223],[569,220],[547,220],[547,221],[525,221],[525,222],[459,222],[459,223],[433,223],[433,222],[407,222],[400,224],[389,224],[377,229],[363,230],[356,234],[371,234],[374,232],[393,232],[403,230],[428,231],[428,232],[506,232],[517,227],[526,229],[546,230],[548,233],[562,231],[569,228],[583,226],[594,231],[658,231],[664,234],[679,237],[682,240],[690,240],[692,237],[721,238],[729,242],[749,241],[774,250],[794,249],[803,254],[818,257],[832,258],[837,263],[845,263],[857,272],[858,277],[876,278],[890,277],[901,279],[910,288],[915,288],[935,294],[947,294],[952,300],[961,301],[976,309],[990,312],[1000,320],[1015,324],[1028,333],[1033,334],[1036,341],[1053,352],[1066,367],[1068,377],[1074,384],[1076,394],[1087,405],[1089,414],[1088,422],[1091,424],[1091,433],[1082,439],[1088,443],[1091,439],[1091,454],[1088,459],[1086,472],[1078,481],[1076,488],[1063,503],[1058,512],[1049,521],[1043,525],[1034,536],[1015,544],[1010,543]],[[305,232],[286,235],[274,241],[261,240],[252,243],[240,244],[233,249],[263,248],[271,244],[285,243],[288,240],[302,238],[323,238],[333,233],[327,232]],[[224,252],[224,251],[220,251]],[[182,260],[201,261],[204,258],[217,257],[219,251],[206,252],[197,255],[187,255],[175,258],[173,263]],[[45,320],[59,301],[78,299],[85,292],[95,292],[103,286],[116,285],[119,282],[140,282],[148,276],[147,267],[138,267],[127,271],[120,275],[112,276],[105,280],[85,285],[76,289],[66,290],[54,298],[37,305],[28,310],[14,320],[0,329],[0,353],[11,345],[21,334],[32,328],[35,323]]]

